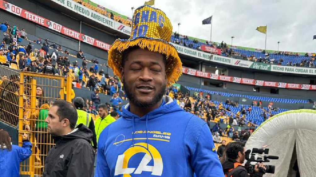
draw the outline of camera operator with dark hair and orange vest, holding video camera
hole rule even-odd
[[[245,166],[242,165],[245,161],[245,144],[242,142],[228,143],[225,154],[222,159],[222,167],[225,177],[251,177]],[[254,167],[254,174],[252,177],[262,177],[264,173],[259,171],[259,167],[265,169],[263,163],[258,163]]]

